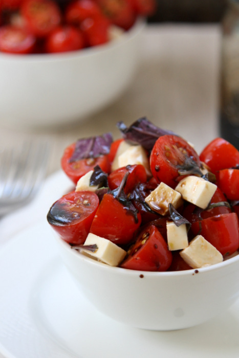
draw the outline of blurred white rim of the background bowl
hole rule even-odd
[[[94,56],[104,51],[110,51],[113,48],[121,46],[122,43],[130,41],[132,38],[137,36],[145,27],[145,19],[138,17],[135,24],[131,29],[125,31],[119,38],[111,40],[105,44],[99,46],[93,46],[77,51],[69,51],[62,53],[42,53],[42,54],[10,54],[0,52],[0,60],[12,61],[12,62],[51,62],[51,61],[62,61],[62,60],[74,60],[80,57]]]

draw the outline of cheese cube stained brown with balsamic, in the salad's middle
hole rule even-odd
[[[161,215],[166,215],[169,211],[169,204],[175,209],[183,204],[181,194],[161,182],[158,187],[144,199],[149,207]]]

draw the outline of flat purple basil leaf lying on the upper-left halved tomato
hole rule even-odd
[[[111,133],[79,139],[76,142],[75,150],[71,156],[70,162],[76,162],[87,158],[97,158],[100,155],[108,154],[112,142],[113,137]]]

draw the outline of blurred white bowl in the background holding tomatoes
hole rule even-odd
[[[0,123],[75,122],[114,101],[131,82],[144,22],[105,45],[63,54],[0,54]]]

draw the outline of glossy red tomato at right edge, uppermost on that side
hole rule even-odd
[[[201,152],[200,160],[215,174],[239,164],[239,151],[223,138],[215,138]]]

